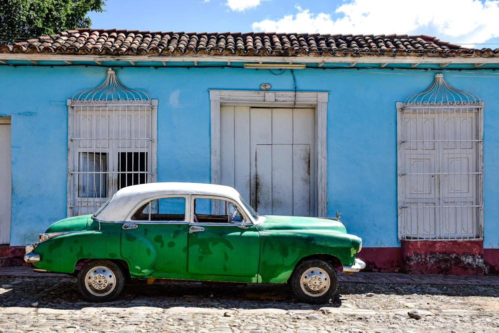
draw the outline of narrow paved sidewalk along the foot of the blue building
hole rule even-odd
[[[0,276],[16,277],[66,277],[66,274],[35,273],[28,267],[0,267]],[[401,284],[437,284],[437,285],[476,285],[499,286],[499,276],[467,275],[413,275],[403,273],[358,272],[352,275],[338,274],[340,282],[359,283],[401,283]]]

